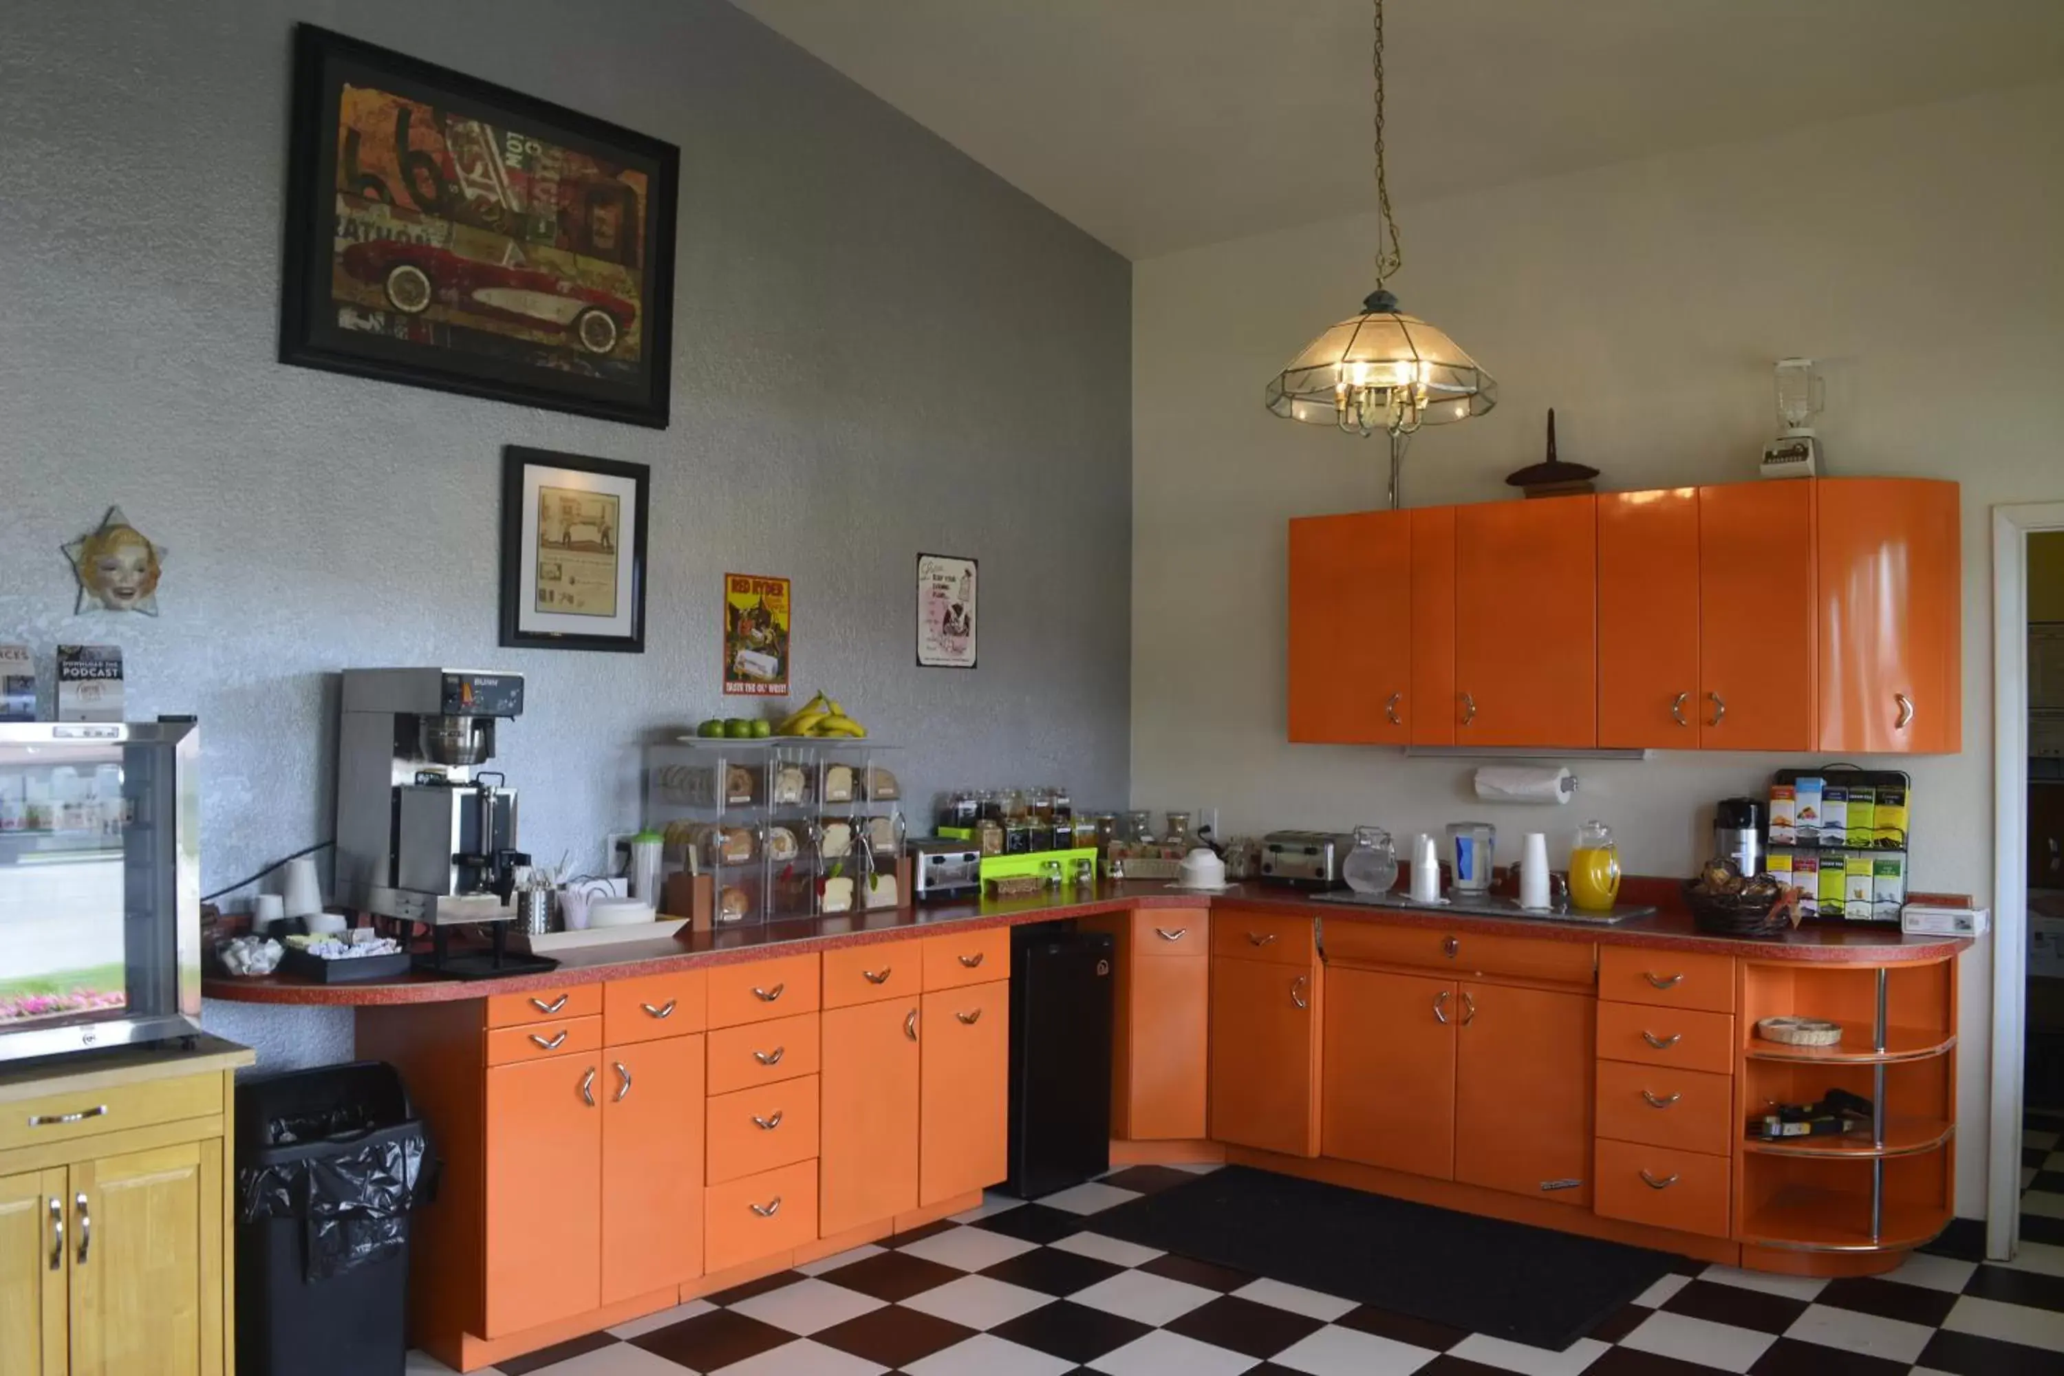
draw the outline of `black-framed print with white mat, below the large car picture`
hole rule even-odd
[[[516,446],[502,464],[502,644],[642,654],[652,470]]]

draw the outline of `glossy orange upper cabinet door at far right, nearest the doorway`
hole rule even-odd
[[[1963,749],[1955,483],[1820,479],[1820,749]]]

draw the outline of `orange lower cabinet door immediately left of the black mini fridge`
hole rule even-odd
[[[937,1205],[1009,1174],[1011,986],[1007,980],[925,994],[918,1011],[918,1205]]]

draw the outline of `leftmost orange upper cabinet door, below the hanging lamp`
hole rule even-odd
[[[1404,745],[1412,637],[1412,512],[1290,522],[1290,739]]]

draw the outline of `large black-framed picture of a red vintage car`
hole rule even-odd
[[[673,144],[299,25],[283,363],[667,425]]]

